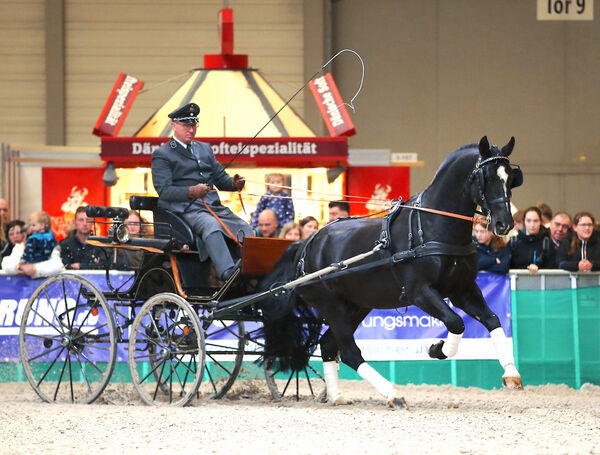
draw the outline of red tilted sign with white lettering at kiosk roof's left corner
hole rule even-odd
[[[96,136],[116,136],[129,113],[137,93],[144,86],[142,81],[125,73],[119,74],[115,86],[94,126]]]

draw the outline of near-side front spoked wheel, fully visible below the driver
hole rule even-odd
[[[188,404],[204,375],[204,349],[200,320],[188,302],[171,293],[148,299],[129,337],[129,370],[142,400],[152,406]]]

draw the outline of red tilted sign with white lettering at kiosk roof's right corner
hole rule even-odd
[[[353,136],[354,124],[330,73],[308,83],[331,136]]]

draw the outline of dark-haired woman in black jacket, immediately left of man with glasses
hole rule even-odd
[[[527,269],[537,273],[539,269],[555,267],[554,251],[550,248],[548,231],[542,226],[542,213],[537,207],[523,212],[525,227],[509,242],[512,269]]]

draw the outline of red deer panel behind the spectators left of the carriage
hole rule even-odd
[[[42,209],[52,219],[56,240],[75,218],[79,206],[106,205],[104,168],[42,168]]]

